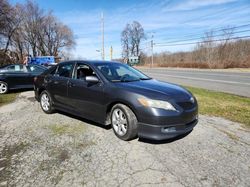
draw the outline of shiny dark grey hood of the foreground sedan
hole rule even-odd
[[[189,100],[192,94],[176,84],[154,79],[115,83],[119,88],[155,99]]]

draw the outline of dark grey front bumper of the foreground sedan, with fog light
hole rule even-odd
[[[138,136],[152,140],[165,140],[186,134],[198,123],[198,105],[179,112],[161,109],[140,110]]]

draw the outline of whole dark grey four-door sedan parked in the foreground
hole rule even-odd
[[[111,124],[122,140],[169,139],[198,122],[198,104],[189,91],[121,63],[63,62],[38,76],[34,86],[45,113],[58,109]]]

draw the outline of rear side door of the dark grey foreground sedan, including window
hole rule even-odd
[[[47,89],[51,94],[55,105],[69,109],[68,82],[72,77],[74,63],[62,63],[58,66],[54,75],[46,77]]]

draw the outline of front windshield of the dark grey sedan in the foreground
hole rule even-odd
[[[95,64],[95,66],[111,82],[132,82],[151,79],[140,71],[125,64],[109,62]]]

